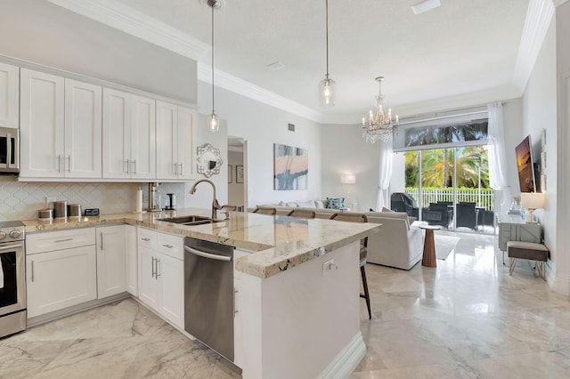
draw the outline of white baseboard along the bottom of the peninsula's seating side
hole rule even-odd
[[[359,330],[353,339],[338,352],[329,365],[322,371],[318,378],[347,378],[366,355],[366,344]]]

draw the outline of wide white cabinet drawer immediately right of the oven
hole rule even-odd
[[[90,245],[95,245],[94,228],[45,231],[26,236],[26,254],[28,255]]]

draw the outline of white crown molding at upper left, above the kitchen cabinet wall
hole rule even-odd
[[[48,1],[192,60],[210,49],[209,44],[115,0]]]

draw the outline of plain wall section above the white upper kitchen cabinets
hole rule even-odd
[[[196,103],[196,61],[47,1],[3,1],[0,54]]]

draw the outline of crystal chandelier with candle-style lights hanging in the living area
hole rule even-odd
[[[362,138],[367,142],[374,143],[376,141],[390,141],[398,127],[398,116],[395,120],[392,119],[392,109],[384,107],[384,95],[382,95],[382,80],[384,77],[377,77],[376,81],[379,83],[379,94],[376,96],[376,112],[372,113],[366,122],[366,117],[362,117]]]

